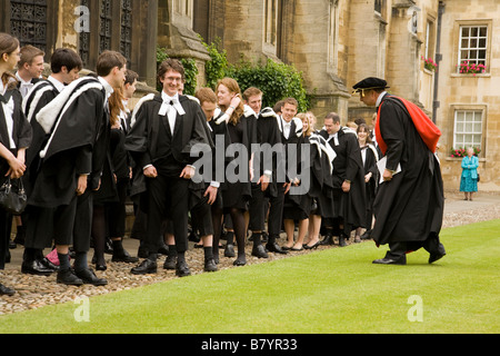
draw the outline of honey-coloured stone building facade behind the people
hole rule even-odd
[[[139,95],[156,87],[158,47],[193,58],[202,86],[210,58],[201,41],[216,39],[231,62],[296,66],[320,125],[329,111],[370,123],[373,108],[351,88],[364,77],[386,78],[392,93],[440,127],[447,189],[458,189],[461,171],[451,148],[473,145],[481,148],[480,189],[500,190],[497,0],[0,0],[0,31],[44,49],[47,59],[70,47],[92,70],[102,50],[121,51],[143,81]],[[461,73],[463,60],[484,65],[484,72]]]

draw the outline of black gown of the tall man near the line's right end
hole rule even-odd
[[[328,132],[320,131],[328,140]],[[340,128],[338,132],[339,145],[334,139],[329,141],[330,147],[337,154],[333,160],[332,186],[336,194],[333,204],[334,217],[343,221],[344,233],[349,236],[352,229],[364,227],[367,214],[367,198],[364,191],[364,169],[358,138],[347,128]],[[351,181],[349,192],[342,191],[344,180]]]

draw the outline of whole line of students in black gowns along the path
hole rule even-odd
[[[138,275],[157,271],[164,246],[163,268],[190,275],[189,227],[201,237],[206,271],[218,269],[224,227],[223,256],[236,257],[236,266],[247,264],[248,231],[251,255],[268,258],[333,244],[333,236],[344,246],[352,230],[370,228],[367,187],[376,170],[367,165],[377,159],[368,159],[372,150],[360,148],[337,113],[317,130],[312,113],[297,112],[296,99],[262,109],[262,92],[241,93],[231,78],[214,91],[184,96],[184,69],[176,59],[159,67],[161,92],[142,97],[130,111],[138,75],[120,53],[104,51],[96,73],[82,78],[73,50],[54,50],[47,79],[43,57],[0,33],[0,182],[21,179],[28,194],[16,217],[24,233],[22,273],[57,271],[61,284],[106,285],[89,267],[88,251],[93,243],[96,269],[106,269],[108,238],[112,261],[138,263],[122,246],[129,198],[146,222],[144,259],[131,269]],[[0,218],[3,268],[12,215],[2,209]],[[51,257],[43,256],[48,247],[54,247]],[[1,294],[14,293],[0,286]]]

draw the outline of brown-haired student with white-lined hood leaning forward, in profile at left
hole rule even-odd
[[[54,208],[53,237],[60,267],[58,283],[106,285],[88,266],[92,196],[100,187],[107,147],[109,118],[107,100],[112,87],[123,83],[127,60],[114,51],[102,52],[97,61],[98,78],[73,81],[38,115],[37,121],[50,138],[30,204]],[[68,253],[76,251],[74,270]]]

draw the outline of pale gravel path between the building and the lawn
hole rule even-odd
[[[487,221],[500,218],[500,195],[499,194],[480,194],[473,201],[463,201],[463,196],[459,192],[447,194],[446,211],[443,228],[467,225],[478,221]],[[352,243],[352,238],[350,239]],[[138,246],[137,240],[126,240],[128,250],[134,255],[136,249],[130,246]],[[279,240],[282,245],[284,238]],[[370,241],[364,241],[367,244]],[[192,246],[192,243],[190,243]],[[127,245],[126,245],[127,247]],[[321,246],[318,250],[327,248],[339,248],[336,246]],[[22,249],[18,247],[16,258],[22,256]],[[268,259],[259,259],[250,256],[251,243],[247,245],[247,263],[248,265],[267,263],[270,260],[288,258],[291,256],[309,254],[310,250],[292,251],[288,255],[269,254]],[[191,248],[187,254],[188,265],[192,275],[203,273],[203,250],[200,248]],[[91,253],[89,254],[91,255]],[[14,255],[13,255],[14,258]],[[102,287],[93,287],[83,285],[81,287],[64,286],[56,283],[56,275],[49,277],[24,275],[20,271],[20,261],[16,260],[8,264],[6,270],[0,270],[0,283],[16,289],[12,297],[0,296],[0,315],[12,314],[27,309],[36,309],[47,305],[72,301],[77,297],[96,296],[108,294],[111,291],[137,288],[153,283],[178,278],[173,270],[162,268],[164,257],[160,257],[158,261],[158,273],[156,275],[134,276],[130,274],[130,268],[134,265],[111,263],[110,256],[107,255],[108,269],[98,271],[99,277],[108,279],[108,285]],[[234,268],[232,266],[233,258],[220,258],[219,269]]]

